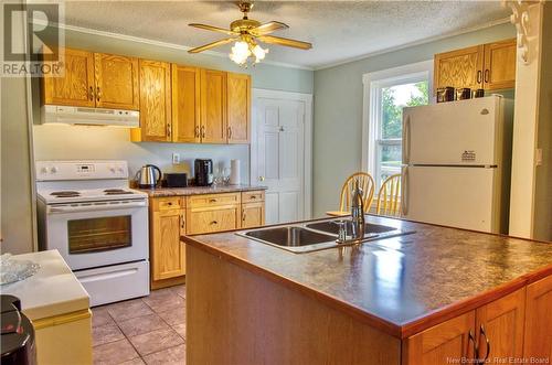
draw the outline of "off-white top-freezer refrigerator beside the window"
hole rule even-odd
[[[498,95],[404,108],[404,218],[507,233],[512,119]]]

